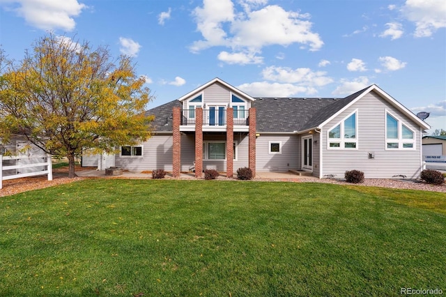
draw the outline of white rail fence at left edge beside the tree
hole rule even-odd
[[[45,160],[46,162],[31,162],[31,159],[38,159],[41,158]],[[15,165],[6,165],[3,166],[3,161],[15,160]],[[25,162],[20,162],[21,160],[25,160]],[[51,162],[51,155],[17,155],[17,156],[3,156],[0,155],[0,189],[3,188],[3,181],[6,181],[8,179],[14,179],[14,178],[21,178],[21,177],[28,177],[28,176],[38,176],[43,174],[48,174],[48,181],[53,180],[53,169],[52,169],[52,162]],[[22,163],[22,164],[21,164]],[[36,167],[44,167],[43,170],[39,170]],[[46,169],[45,169],[46,167]],[[24,173],[17,172],[16,174],[8,174],[6,176],[3,176],[3,171],[7,170],[14,170],[16,169],[25,169]],[[29,172],[28,172],[29,171]]]

